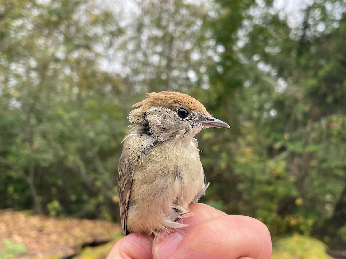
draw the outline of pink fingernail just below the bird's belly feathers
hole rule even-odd
[[[160,259],[171,258],[183,237],[182,233],[169,233],[166,239],[158,241],[155,247],[155,257]]]

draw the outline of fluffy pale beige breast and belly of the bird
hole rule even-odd
[[[203,188],[197,140],[158,142],[134,173],[127,212],[130,232],[159,233],[179,223]]]

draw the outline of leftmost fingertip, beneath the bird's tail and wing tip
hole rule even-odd
[[[128,234],[113,246],[107,259],[152,259],[152,243],[152,237]]]

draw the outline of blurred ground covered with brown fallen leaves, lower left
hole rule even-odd
[[[83,244],[107,242],[120,231],[118,224],[109,222],[0,210],[0,257],[8,249],[4,239],[26,248],[26,253],[7,258],[69,258],[79,253]]]

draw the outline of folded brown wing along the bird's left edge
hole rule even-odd
[[[118,196],[122,232],[124,232],[125,235],[129,234],[126,228],[126,216],[133,175],[133,167],[130,165],[128,159],[125,158],[125,155],[121,154],[118,165]]]

